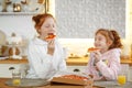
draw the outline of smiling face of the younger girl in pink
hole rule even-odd
[[[107,51],[109,48],[107,38],[100,33],[98,33],[95,37],[95,46],[100,48],[100,51]]]

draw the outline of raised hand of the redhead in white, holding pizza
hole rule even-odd
[[[53,55],[55,51],[55,40],[47,41],[47,54]]]

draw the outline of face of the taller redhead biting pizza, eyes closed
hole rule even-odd
[[[56,23],[53,18],[47,18],[45,22],[42,24],[40,30],[40,37],[44,38],[48,33],[56,33]]]

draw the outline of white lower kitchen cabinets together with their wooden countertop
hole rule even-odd
[[[88,58],[68,58],[66,61],[67,63],[67,70],[68,72],[75,72],[75,73],[84,73],[85,67],[87,66]],[[132,73],[132,59],[122,58],[121,64],[129,64],[130,65],[130,72]],[[22,70],[22,77],[26,74],[26,70],[29,69],[28,59],[1,59],[0,61],[0,77],[11,77],[11,72],[9,70],[9,67],[14,67],[16,69]],[[129,74],[129,78],[131,78]]]

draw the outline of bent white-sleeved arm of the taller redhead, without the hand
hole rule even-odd
[[[28,59],[30,66],[35,70],[34,73],[38,76],[38,78],[46,78],[46,75],[50,74],[50,69],[52,68],[52,56],[48,54],[43,54],[37,46],[30,46],[28,51]]]

